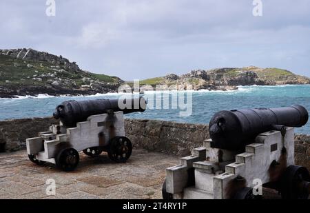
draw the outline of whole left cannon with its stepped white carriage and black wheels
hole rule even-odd
[[[113,161],[125,163],[132,154],[132,142],[125,136],[123,114],[145,109],[143,97],[64,101],[53,114],[59,124],[26,140],[29,159],[72,171],[79,163],[79,152],[99,156],[105,151]]]

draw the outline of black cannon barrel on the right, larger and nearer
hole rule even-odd
[[[209,133],[215,148],[242,150],[260,133],[280,130],[281,126],[298,128],[305,125],[308,119],[309,114],[302,105],[286,108],[224,110],[211,118]]]

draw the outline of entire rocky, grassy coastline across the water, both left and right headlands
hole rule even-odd
[[[32,49],[0,50],[0,97],[38,94],[89,95],[117,92],[118,77],[81,70],[62,56]],[[278,68],[218,68],[168,74],[140,81],[141,85],[193,85],[194,90],[236,90],[238,85],[310,84],[308,77]]]

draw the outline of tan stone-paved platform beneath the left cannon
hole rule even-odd
[[[91,158],[80,153],[74,172],[52,164],[35,165],[25,151],[0,154],[0,199],[161,199],[165,168],[178,158],[134,150],[127,163],[113,163],[107,154]],[[56,195],[45,182],[54,179]]]

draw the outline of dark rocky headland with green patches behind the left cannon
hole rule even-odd
[[[32,49],[0,50],[0,97],[116,92],[118,77],[81,70],[62,56]]]

